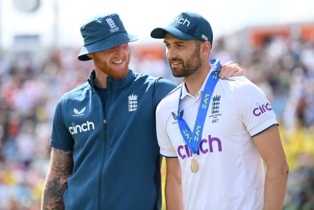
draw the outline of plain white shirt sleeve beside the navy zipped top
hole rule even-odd
[[[157,140],[160,147],[160,154],[165,157],[177,157],[176,150],[173,148],[166,129],[166,117],[161,108],[162,101],[158,104],[156,109],[156,131]]]

